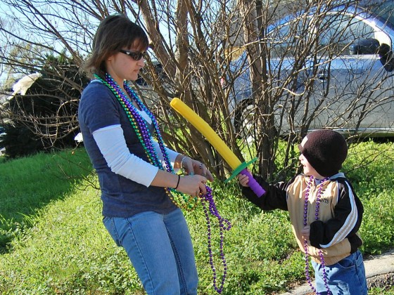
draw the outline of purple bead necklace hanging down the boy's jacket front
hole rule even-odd
[[[314,209],[314,220],[319,220],[319,207],[320,207],[320,198],[322,197],[322,190],[323,190],[323,183],[327,180],[328,178],[324,178],[323,181],[319,185],[319,189],[317,190],[317,196],[316,196],[316,209]],[[312,185],[312,182],[314,182],[314,176],[310,176],[309,182],[307,184],[307,190],[305,191],[305,203],[304,203],[304,226],[307,226],[307,206],[309,202],[309,193],[310,193],[310,187]],[[310,279],[310,273],[309,273],[309,255],[307,251],[307,240],[304,240],[304,249],[305,249],[305,277],[307,278],[307,282],[310,285],[312,291],[314,293],[317,293],[316,289],[314,289],[312,285],[312,280]],[[323,281],[324,281],[324,286],[326,286],[327,289],[327,294],[332,294],[330,289],[329,289],[329,284],[327,280],[327,274],[326,274],[326,263],[324,262],[324,254],[322,250],[319,250],[319,256],[320,256],[320,261],[323,266]]]

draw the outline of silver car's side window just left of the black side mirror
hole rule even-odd
[[[326,15],[315,30],[319,32],[321,55],[348,55],[349,46],[355,40],[374,38],[374,28],[348,14]]]

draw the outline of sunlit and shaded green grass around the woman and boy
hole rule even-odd
[[[376,152],[379,153],[375,157]],[[365,161],[374,161],[354,169]],[[364,204],[362,251],[380,254],[394,244],[394,150],[363,143],[350,149],[344,171]],[[0,294],[144,294],[131,263],[101,223],[96,176],[84,150],[0,162]],[[70,177],[72,176],[72,177]],[[223,294],[273,294],[305,282],[288,214],[261,213],[240,196],[235,181],[211,183],[217,209],[232,223],[225,232],[227,280]],[[198,294],[215,294],[208,263],[203,209],[185,212],[193,237]],[[219,249],[211,218],[212,248]],[[215,255],[219,276],[222,266]],[[371,294],[392,294],[374,288]]]

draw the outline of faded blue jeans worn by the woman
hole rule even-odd
[[[103,223],[117,246],[126,250],[147,294],[197,294],[193,245],[180,209],[104,217]]]

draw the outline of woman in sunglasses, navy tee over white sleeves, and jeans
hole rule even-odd
[[[193,206],[213,178],[201,162],[164,146],[155,117],[125,83],[138,78],[147,48],[145,32],[125,15],[101,22],[84,64],[96,79],[82,93],[78,119],[98,174],[103,223],[146,292],[196,294],[193,246],[174,190]]]

